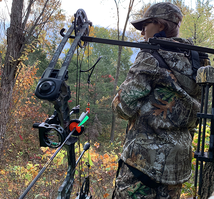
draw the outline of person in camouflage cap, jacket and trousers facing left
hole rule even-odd
[[[180,9],[151,6],[132,25],[145,41],[191,44],[178,38]],[[181,52],[142,49],[113,99],[119,118],[128,120],[114,199],[178,199],[191,176],[192,138],[201,89],[190,57]]]

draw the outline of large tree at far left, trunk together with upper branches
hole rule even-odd
[[[39,15],[35,15],[33,23],[28,23],[31,7],[35,0],[28,0],[28,6],[23,12],[24,0],[13,0],[10,14],[10,27],[7,29],[7,52],[4,66],[1,66],[0,85],[0,154],[2,154],[4,138],[7,129],[7,122],[10,114],[13,88],[18,76],[17,71],[21,69],[20,62],[25,58],[21,56],[27,44],[38,38],[45,24],[49,23],[50,17],[60,6],[60,0],[44,1],[43,8]],[[50,3],[48,5],[48,3]],[[52,9],[46,9],[52,6]],[[24,13],[24,14],[23,14]],[[44,17],[45,16],[45,17]],[[28,24],[28,27],[25,27]],[[25,30],[25,28],[27,30]],[[25,34],[26,33],[26,34]],[[32,47],[33,48],[33,47]],[[25,53],[26,56],[26,53]],[[1,159],[1,155],[0,155]]]

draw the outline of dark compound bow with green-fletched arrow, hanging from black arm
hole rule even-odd
[[[68,65],[70,64],[71,58],[73,57],[76,47],[79,45],[84,48],[87,42],[82,44],[81,37],[89,34],[89,26],[91,22],[88,21],[84,10],[79,9],[75,14],[74,22],[64,35],[61,43],[59,44],[49,66],[44,71],[41,79],[38,82],[35,95],[42,100],[47,100],[54,105],[55,112],[45,122],[34,124],[34,128],[39,129],[40,146],[48,146],[51,148],[58,148],[49,161],[45,164],[43,169],[39,172],[37,177],[32,181],[24,193],[20,196],[24,198],[31,187],[35,184],[56,154],[65,146],[67,150],[68,158],[68,171],[67,176],[58,190],[57,199],[68,199],[71,195],[71,190],[74,183],[74,171],[77,163],[82,157],[83,153],[90,147],[89,144],[84,146],[84,150],[77,160],[75,159],[74,144],[77,141],[77,136],[80,135],[84,127],[82,124],[87,119],[87,113],[83,113],[78,120],[70,120],[72,113],[79,112],[79,106],[74,107],[72,111],[69,111],[68,100],[71,98],[70,87],[66,84],[68,79]],[[59,56],[71,36],[72,32],[75,31],[75,39],[65,57],[65,60],[60,69],[54,69]],[[80,193],[79,198],[87,198],[88,196],[88,178],[86,178],[85,194]]]

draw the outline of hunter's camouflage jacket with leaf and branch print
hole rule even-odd
[[[181,38],[163,39],[189,43]],[[170,70],[140,51],[112,108],[129,121],[121,159],[156,182],[175,185],[191,176],[191,133],[197,125],[201,89],[183,53],[158,52]]]

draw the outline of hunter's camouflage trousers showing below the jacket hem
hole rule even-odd
[[[179,199],[182,185],[163,185],[157,188],[145,186],[122,164],[116,179],[112,199]]]

